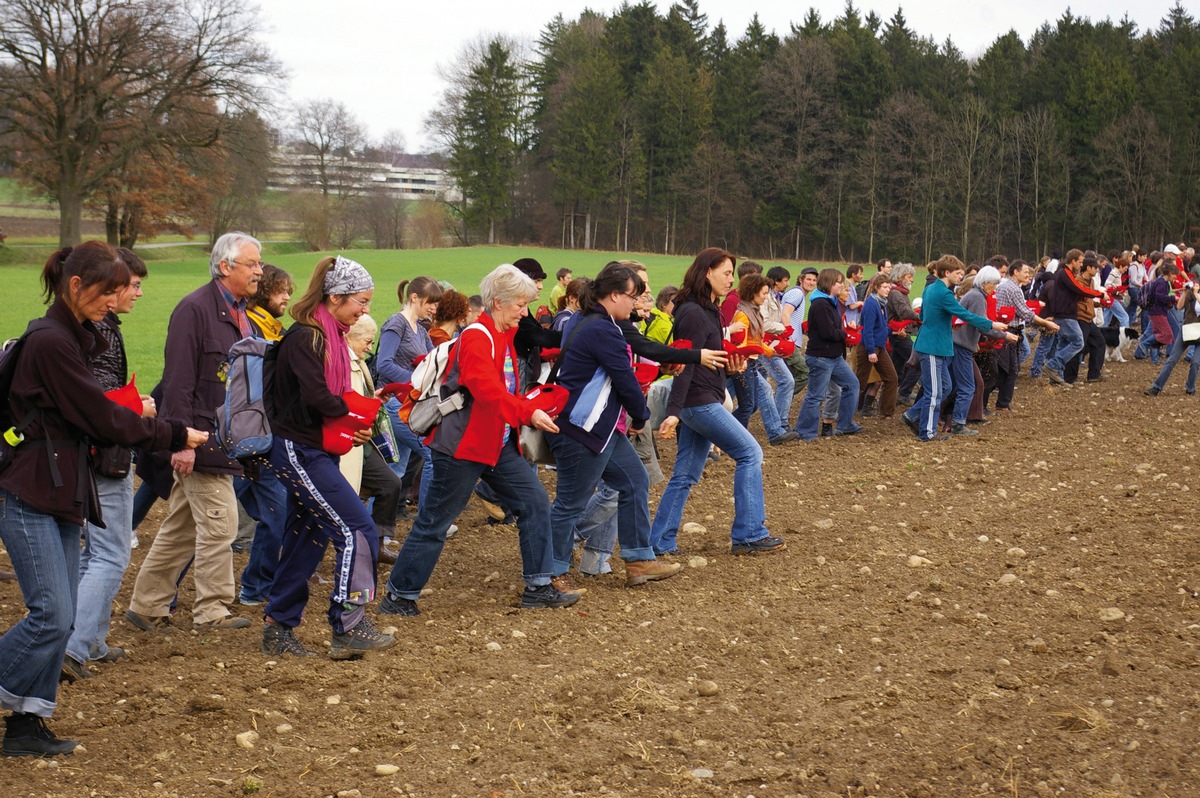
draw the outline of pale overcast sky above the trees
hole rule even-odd
[[[263,38],[290,71],[290,101],[332,97],[341,100],[368,127],[372,138],[391,130],[403,133],[409,151],[428,142],[425,119],[442,96],[439,64],[454,60],[461,48],[481,35],[505,34],[533,41],[557,13],[576,19],[592,7],[611,12],[619,0],[260,0]],[[656,0],[666,14],[671,0]],[[1140,31],[1158,28],[1174,0],[857,0],[859,12],[874,10],[884,22],[904,8],[908,28],[937,42],[947,36],[968,58],[980,55],[1009,30],[1021,38],[1045,22],[1073,13],[1094,20],[1120,20],[1126,14]],[[1186,4],[1187,5],[1187,4]],[[809,7],[822,20],[839,17],[844,0],[701,0],[709,28],[724,20],[730,43],[740,38],[757,11],[768,30],[786,36],[791,23],[800,23]],[[284,104],[286,107],[286,104]]]

